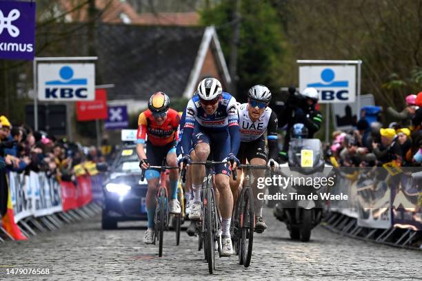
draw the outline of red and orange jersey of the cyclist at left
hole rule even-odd
[[[180,116],[176,110],[168,110],[167,118],[162,125],[155,122],[150,110],[145,110],[139,114],[137,143],[145,143],[146,135],[152,145],[164,146],[177,141],[177,127],[179,126]]]

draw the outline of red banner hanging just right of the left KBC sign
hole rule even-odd
[[[107,92],[106,89],[95,90],[94,101],[77,102],[78,121],[93,121],[96,119],[107,119]]]

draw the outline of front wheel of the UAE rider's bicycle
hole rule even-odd
[[[255,222],[255,211],[254,211],[254,195],[252,189],[247,187],[245,190],[243,205],[243,224],[241,233],[241,248],[243,256],[243,265],[245,267],[250,266],[250,260],[252,258],[252,247],[254,242],[254,222]]]

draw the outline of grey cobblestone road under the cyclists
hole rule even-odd
[[[144,245],[144,223],[125,222],[123,228],[102,231],[100,217],[67,225],[55,233],[27,242],[0,245],[0,265],[50,268],[50,275],[3,275],[0,280],[422,280],[422,254],[339,236],[316,227],[308,243],[288,238],[285,225],[265,211],[269,229],[255,236],[250,268],[237,256],[216,258],[209,275],[197,238],[183,232],[175,246],[165,233],[164,256],[158,244]]]

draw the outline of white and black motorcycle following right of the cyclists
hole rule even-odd
[[[321,222],[325,200],[320,194],[327,186],[327,183],[321,184],[321,178],[327,179],[331,171],[332,166],[323,159],[319,139],[291,139],[288,162],[279,168],[285,178],[285,185],[279,186],[280,192],[285,196],[277,203],[274,216],[285,222],[293,240],[308,242],[312,229]]]

